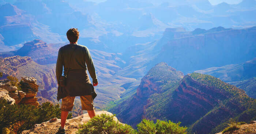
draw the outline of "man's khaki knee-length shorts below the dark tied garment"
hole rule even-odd
[[[91,95],[80,96],[82,110],[94,110],[93,97]],[[62,98],[61,111],[72,111],[75,97],[67,96]]]

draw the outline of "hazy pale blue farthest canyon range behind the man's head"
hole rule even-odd
[[[91,49],[123,53],[129,46],[161,38],[170,27],[246,28],[256,25],[255,0],[211,5],[208,0],[1,0],[0,51],[15,50],[27,41],[66,42],[65,32],[76,27],[80,43]],[[159,1],[161,3],[161,1]]]

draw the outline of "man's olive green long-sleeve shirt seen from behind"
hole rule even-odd
[[[76,47],[76,49],[75,49]],[[75,49],[75,51],[74,51]],[[74,51],[73,55],[71,55]],[[71,60],[70,60],[71,58]],[[70,63],[69,63],[70,60]],[[87,67],[86,67],[87,65]],[[57,63],[56,63],[56,77],[59,83],[59,78],[62,75],[64,66],[64,73],[69,70],[85,69],[89,71],[93,83],[98,83],[93,60],[91,58],[89,49],[83,45],[68,44],[59,49]]]

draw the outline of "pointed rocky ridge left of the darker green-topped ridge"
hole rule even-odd
[[[151,103],[150,96],[159,95],[167,90],[173,91],[182,77],[182,72],[168,66],[166,63],[159,63],[142,78],[136,94],[110,111],[117,114],[117,118],[123,120],[124,123],[135,127],[145,116],[144,110]],[[170,85],[166,86],[166,83]]]

